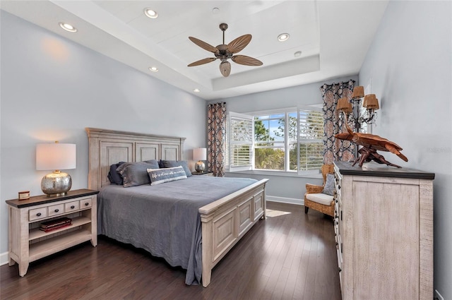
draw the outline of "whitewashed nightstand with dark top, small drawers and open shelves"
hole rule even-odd
[[[6,200],[8,204],[8,265],[19,264],[19,275],[27,273],[35,260],[91,241],[97,246],[97,193],[81,189],[65,196],[47,195],[28,200]],[[49,232],[40,230],[44,221],[68,217],[71,224]]]

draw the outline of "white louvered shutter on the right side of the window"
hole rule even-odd
[[[323,113],[298,109],[298,172],[319,170],[323,164]]]

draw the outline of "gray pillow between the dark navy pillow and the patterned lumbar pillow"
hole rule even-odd
[[[126,162],[121,164],[116,171],[121,174],[124,188],[150,184],[148,169],[158,169],[157,160],[145,162]]]

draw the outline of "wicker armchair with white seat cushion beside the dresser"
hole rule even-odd
[[[323,185],[306,185],[304,194],[304,213],[307,214],[309,208],[318,210],[326,215],[334,216],[334,165],[323,164],[322,168]],[[328,176],[328,174],[330,174]]]

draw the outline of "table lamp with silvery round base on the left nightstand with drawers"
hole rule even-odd
[[[71,175],[61,169],[76,169],[76,144],[36,145],[36,169],[54,170],[42,177],[41,189],[47,196],[64,196],[72,187]]]

